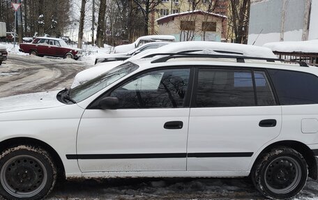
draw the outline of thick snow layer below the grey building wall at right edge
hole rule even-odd
[[[268,47],[273,52],[318,53],[318,40],[266,43],[263,47]]]

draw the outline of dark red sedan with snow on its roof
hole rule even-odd
[[[82,56],[82,49],[68,46],[61,38],[38,37],[32,43],[21,43],[19,51],[34,56],[55,56],[75,60]]]

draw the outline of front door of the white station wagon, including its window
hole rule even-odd
[[[101,97],[118,98],[117,109],[86,109],[77,136],[80,169],[185,171],[189,75],[190,68],[144,72]]]

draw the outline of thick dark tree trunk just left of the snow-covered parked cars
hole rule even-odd
[[[98,47],[104,47],[106,0],[100,0],[96,41]]]

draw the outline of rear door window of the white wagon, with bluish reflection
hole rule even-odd
[[[197,107],[249,107],[276,105],[263,71],[199,69]]]

